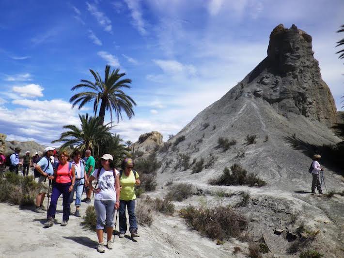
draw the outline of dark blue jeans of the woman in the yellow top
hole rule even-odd
[[[130,201],[120,200],[119,221],[120,221],[120,233],[126,232],[126,217],[125,217],[125,206],[128,208],[129,214],[129,231],[136,231],[138,229],[135,217],[135,199]]]

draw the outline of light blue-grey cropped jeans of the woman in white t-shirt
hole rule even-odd
[[[104,229],[104,226],[113,227],[115,203],[115,201],[94,200],[94,209],[97,214],[95,229]]]

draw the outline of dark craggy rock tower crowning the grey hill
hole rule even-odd
[[[313,53],[310,35],[295,25],[278,25],[270,34],[266,59],[236,86],[241,87],[239,96],[263,98],[281,114],[301,114],[333,126],[336,106]]]

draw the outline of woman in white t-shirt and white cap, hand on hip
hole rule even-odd
[[[97,188],[94,189],[92,181],[98,181]],[[93,174],[87,178],[86,184],[95,193],[94,208],[97,214],[96,232],[99,244],[97,251],[104,253],[103,230],[107,227],[108,249],[112,249],[113,242],[113,217],[115,210],[118,210],[120,203],[120,183],[119,172],[114,168],[113,158],[110,154],[104,154],[101,157],[101,168],[94,170]]]

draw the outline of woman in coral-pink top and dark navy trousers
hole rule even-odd
[[[48,218],[44,226],[53,226],[56,214],[57,200],[60,195],[63,196],[63,221],[61,226],[67,226],[70,215],[70,192],[75,183],[75,169],[69,162],[69,155],[63,151],[60,154],[60,163],[56,164],[54,176],[48,179],[54,179],[52,184],[51,202],[48,209]]]

